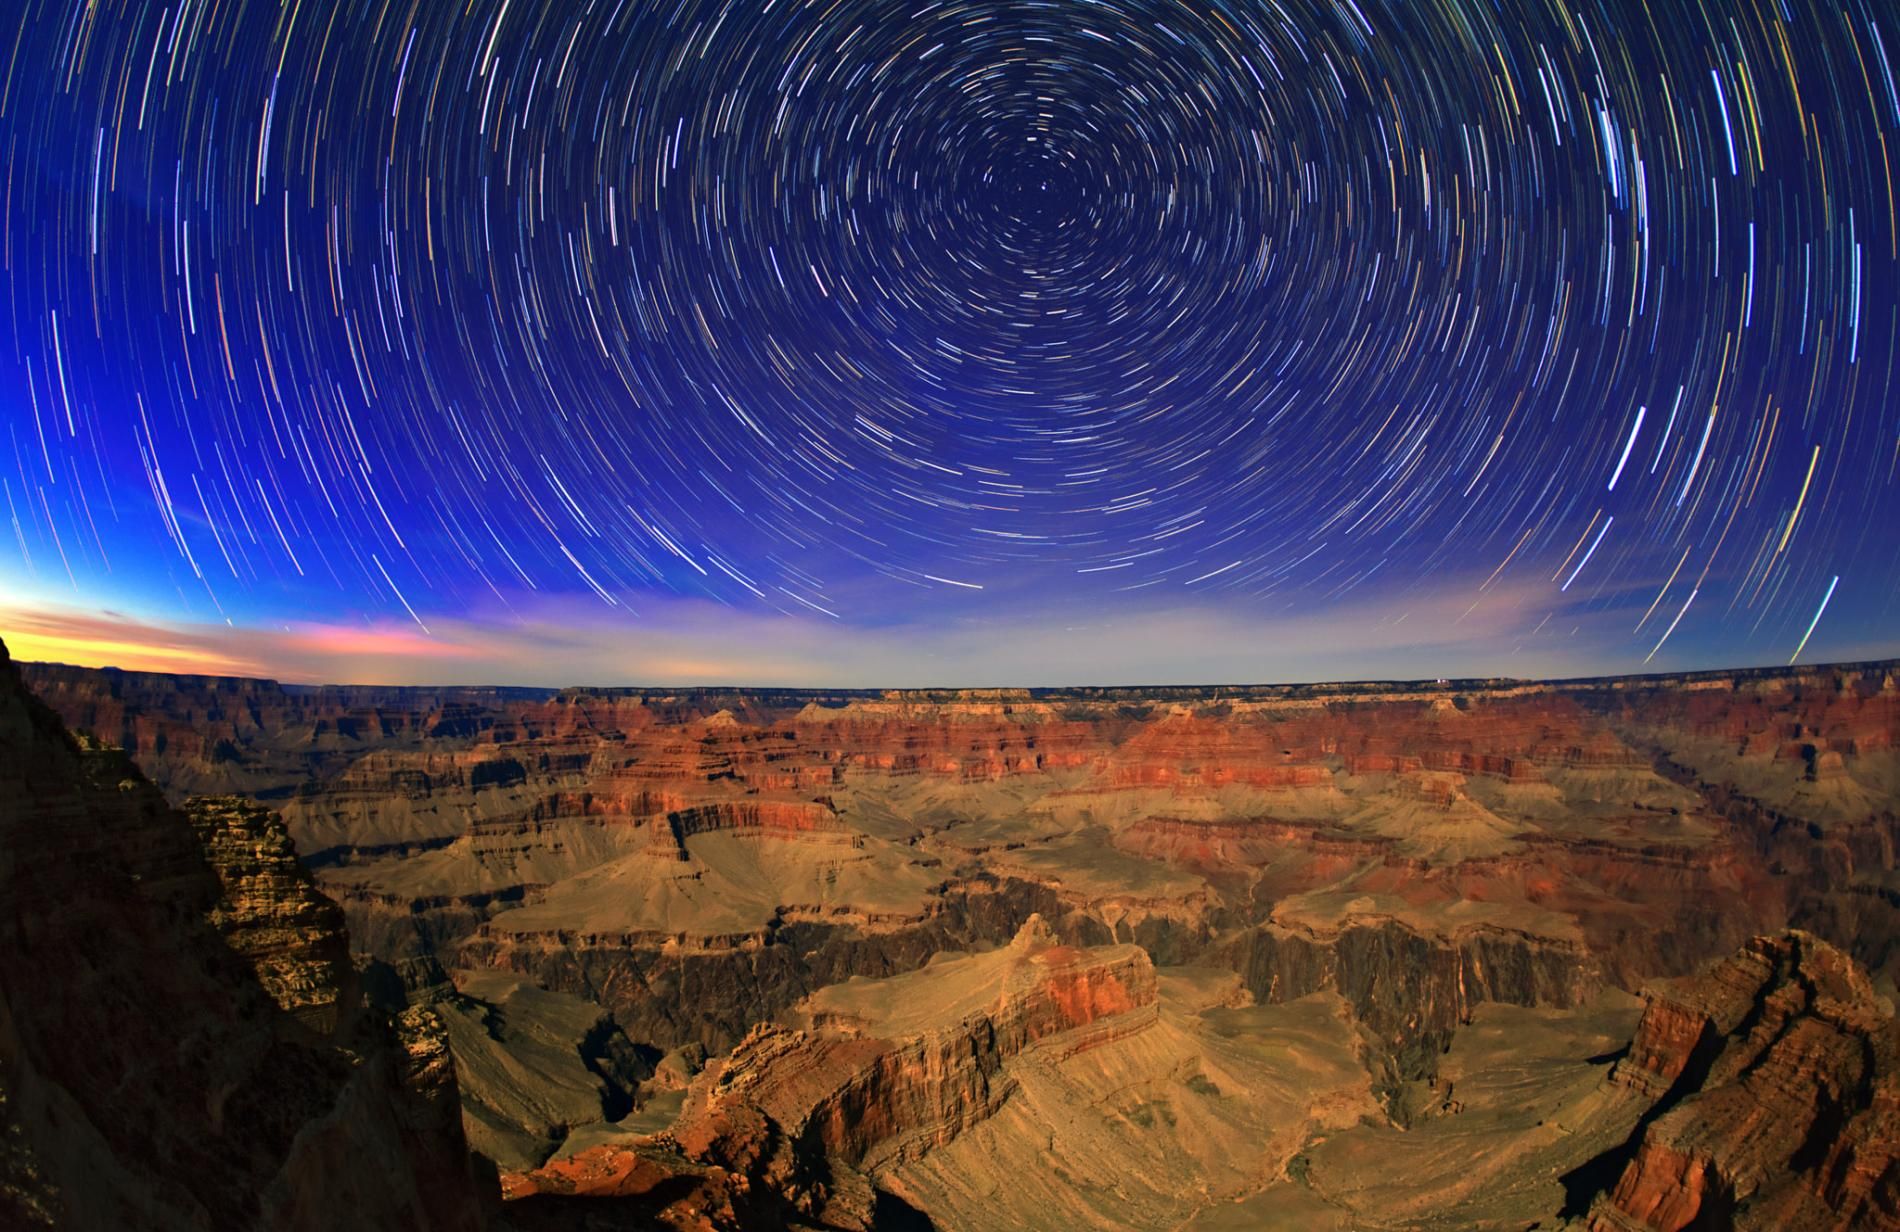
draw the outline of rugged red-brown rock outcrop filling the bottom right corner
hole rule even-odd
[[[1657,989],[1611,1080],[1659,1103],[1592,1232],[1900,1228],[1900,1023],[1832,945]]]

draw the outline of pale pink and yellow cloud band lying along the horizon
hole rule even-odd
[[[1480,578],[1482,580],[1482,578]],[[568,606],[428,612],[414,624],[289,627],[162,624],[49,605],[0,606],[13,658],[146,671],[268,675],[365,684],[1214,684],[1241,681],[1552,677],[1596,671],[1628,612],[1558,610],[1554,587],[1452,580],[1258,616],[1151,608],[1104,620],[1005,616],[859,629],[737,612],[712,603],[642,605],[640,618],[576,618]],[[1630,669],[1640,652],[1630,646]]]

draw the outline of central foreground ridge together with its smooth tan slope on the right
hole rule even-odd
[[[1032,916],[1005,947],[754,1027],[665,1129],[504,1177],[511,1213],[557,1226],[562,1196],[671,1226],[1168,1226],[1378,1107],[1336,998],[1224,1013],[1205,992]]]

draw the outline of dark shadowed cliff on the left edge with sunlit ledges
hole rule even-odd
[[[0,650],[0,1224],[483,1224],[428,1015],[355,1011],[281,829],[184,816]]]

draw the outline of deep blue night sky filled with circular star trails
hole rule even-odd
[[[21,2],[21,658],[1900,654],[1885,0]]]

